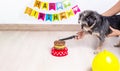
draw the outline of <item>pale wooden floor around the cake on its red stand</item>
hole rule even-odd
[[[94,47],[98,40],[86,35],[68,40],[68,56],[50,54],[54,40],[76,34],[76,31],[0,31],[0,71],[91,71]],[[120,58],[117,38],[107,38],[103,49]]]

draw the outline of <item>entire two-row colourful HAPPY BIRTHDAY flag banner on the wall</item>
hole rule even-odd
[[[63,8],[67,8],[69,6],[71,6],[71,3],[68,0],[64,0],[62,2],[56,2],[56,3],[48,3],[48,2],[42,2],[39,0],[35,0],[34,3],[34,7],[37,7],[39,9],[42,10],[59,10],[59,9],[64,9]],[[35,9],[32,9],[30,7],[26,7],[25,9],[25,14],[28,14],[29,16],[32,16],[38,20],[42,20],[42,21],[61,21],[63,19],[68,19],[72,16],[75,16],[78,12],[80,12],[80,8],[78,7],[78,5],[75,5],[74,7],[72,7],[69,10],[60,12],[60,13],[53,13],[53,14],[49,14],[49,13],[43,13],[43,12],[39,12]]]

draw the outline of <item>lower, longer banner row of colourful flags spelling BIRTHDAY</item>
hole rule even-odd
[[[67,10],[61,13],[56,13],[56,14],[45,14],[42,12],[38,12],[30,7],[26,7],[26,10],[25,10],[25,14],[28,14],[29,16],[32,16],[38,20],[51,21],[51,22],[70,18],[76,15],[78,12],[80,12],[78,5],[74,6],[70,10]]]

